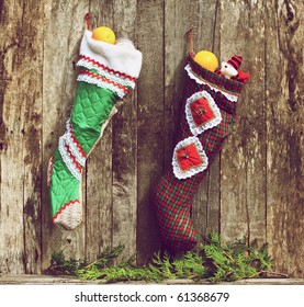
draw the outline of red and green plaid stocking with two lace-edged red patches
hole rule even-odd
[[[171,252],[188,251],[196,246],[191,221],[193,196],[230,133],[244,86],[202,68],[192,57],[185,71],[172,167],[154,190],[162,241]]]

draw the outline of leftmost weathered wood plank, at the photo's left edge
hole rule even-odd
[[[18,81],[26,69],[20,45],[22,5],[3,3],[1,12],[1,192],[0,192],[0,263],[1,272],[22,273],[23,265],[23,170],[15,167],[23,160],[22,145],[24,127],[24,104]],[[14,13],[13,13],[14,12]],[[25,44],[24,39],[23,43]],[[3,69],[3,70],[2,70]],[[16,70],[18,69],[18,70]],[[26,78],[29,80],[29,78]],[[21,104],[21,105],[20,105]],[[21,109],[21,110],[20,110]],[[14,170],[14,171],[12,171]],[[13,227],[12,227],[13,226]]]

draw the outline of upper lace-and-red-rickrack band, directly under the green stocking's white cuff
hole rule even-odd
[[[82,57],[80,60],[77,62],[77,66],[87,68],[87,69],[94,69],[98,75],[104,77],[105,79],[109,79],[113,82],[116,82],[119,84],[122,84],[124,87],[128,87],[134,89],[135,88],[135,78],[126,76],[125,73],[119,73],[119,72],[113,72],[111,69],[105,67],[104,65],[99,64],[95,60],[92,60],[88,57]]]

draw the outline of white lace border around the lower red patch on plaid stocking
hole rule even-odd
[[[179,166],[179,162],[178,162],[178,158],[177,158],[177,150],[183,148],[183,147],[187,147],[191,144],[194,144],[196,149],[198,149],[198,152],[200,155],[200,157],[202,158],[202,164],[201,166],[198,166],[193,169],[189,169],[188,171],[182,171],[180,169],[180,166]],[[173,167],[173,173],[176,175],[176,178],[178,179],[187,179],[187,178],[190,178],[199,172],[202,172],[204,171],[206,168],[207,168],[207,164],[209,164],[209,159],[207,159],[207,156],[205,154],[205,150],[203,149],[202,147],[202,144],[200,143],[199,138],[196,136],[191,136],[191,137],[188,137],[181,141],[179,141],[173,150],[173,158],[172,158],[172,167]]]

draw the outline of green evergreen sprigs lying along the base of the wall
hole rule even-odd
[[[161,282],[164,280],[191,278],[194,281],[221,282],[264,276],[271,273],[272,260],[268,246],[250,246],[246,240],[227,243],[216,232],[211,232],[207,243],[172,259],[169,253],[156,252],[147,265],[136,265],[136,258],[114,265],[113,260],[124,247],[108,248],[93,262],[67,260],[64,252],[54,252],[48,274],[69,274],[83,280],[100,280],[102,283],[117,281]]]

